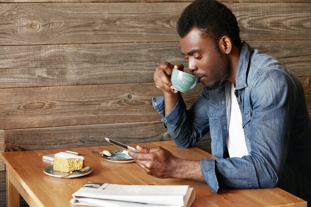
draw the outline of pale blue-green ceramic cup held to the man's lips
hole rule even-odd
[[[188,93],[197,86],[199,78],[187,72],[173,69],[170,81],[174,89],[183,93]]]

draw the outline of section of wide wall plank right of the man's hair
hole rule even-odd
[[[226,5],[232,9],[238,21],[242,40],[310,39],[307,33],[311,31],[311,4],[229,3]],[[304,9],[301,10],[299,7]],[[290,30],[291,33],[288,33]]]

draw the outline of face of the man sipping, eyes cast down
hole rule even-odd
[[[213,40],[198,29],[192,29],[179,43],[181,53],[188,59],[188,70],[198,76],[205,87],[215,88],[230,75],[227,55],[216,49]]]

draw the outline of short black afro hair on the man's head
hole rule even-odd
[[[198,28],[215,44],[226,33],[235,46],[241,45],[240,30],[234,14],[216,0],[195,0],[184,9],[177,22],[179,37],[185,37],[193,28]]]

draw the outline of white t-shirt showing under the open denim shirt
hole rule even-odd
[[[248,155],[244,130],[242,128],[242,115],[234,94],[234,84],[231,85],[230,122],[227,136],[227,149],[230,157],[242,157]]]

